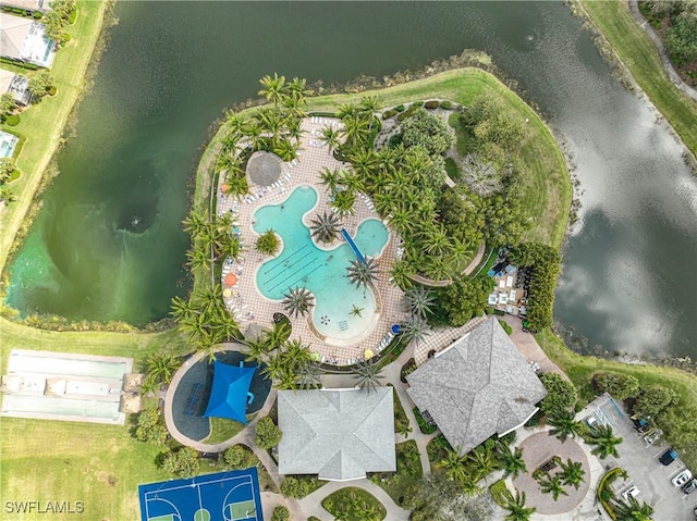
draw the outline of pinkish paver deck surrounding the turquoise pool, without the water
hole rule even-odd
[[[273,324],[273,313],[283,312],[280,301],[266,298],[256,286],[256,272],[259,266],[268,260],[256,251],[254,244],[258,234],[254,232],[254,213],[262,206],[279,204],[284,201],[291,193],[298,186],[313,186],[319,195],[317,204],[304,218],[305,224],[309,224],[309,219],[316,213],[333,210],[329,206],[329,195],[321,185],[319,174],[325,168],[350,168],[334,159],[323,141],[320,139],[321,129],[332,125],[340,127],[341,122],[330,117],[306,117],[303,121],[303,136],[301,138],[301,151],[298,159],[291,163],[282,163],[280,181],[270,187],[262,187],[249,182],[250,194],[244,198],[233,198],[222,194],[219,182],[218,206],[220,215],[233,211],[235,221],[240,227],[240,235],[244,245],[244,250],[239,262],[228,261],[223,264],[224,280],[228,273],[237,276],[237,283],[230,288],[230,296],[225,298],[225,305],[234,314],[241,331],[245,331],[249,324],[256,323],[262,327],[271,327]],[[367,196],[359,195],[354,204],[355,213],[346,215],[341,220],[341,226],[355,236],[358,225],[366,219],[380,219]],[[318,245],[322,249],[332,249],[344,241],[338,237],[330,245]],[[360,361],[366,349],[379,352],[381,340],[390,332],[392,324],[406,319],[407,313],[402,305],[403,291],[389,284],[389,270],[392,259],[399,256],[400,239],[394,232],[390,232],[390,238],[381,255],[377,258],[378,266],[381,271],[379,281],[376,283],[374,293],[376,302],[380,309],[378,323],[368,336],[363,336],[359,342],[353,345],[340,345],[340,342],[323,342],[321,335],[311,324],[311,313],[306,318],[290,318],[293,325],[292,338],[298,338],[310,345],[310,349],[319,353],[320,359],[327,363],[346,365]],[[224,287],[224,284],[223,284]]]

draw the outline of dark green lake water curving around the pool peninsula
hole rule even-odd
[[[555,317],[592,344],[697,356],[697,183],[557,2],[118,2],[61,175],[10,265],[22,313],[145,324],[187,290],[180,221],[209,127],[258,78],[344,82],[489,52],[543,110],[583,194]]]

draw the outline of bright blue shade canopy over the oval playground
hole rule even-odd
[[[228,365],[216,360],[213,387],[204,417],[227,418],[246,424],[247,393],[256,369]]]

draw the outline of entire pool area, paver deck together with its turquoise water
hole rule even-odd
[[[356,259],[356,253],[341,235],[329,245],[316,245],[311,239],[301,240],[285,250],[289,239],[281,232],[279,235],[284,249],[276,258],[260,255],[253,246],[259,233],[270,227],[279,232],[277,227],[289,225],[285,215],[293,213],[294,197],[307,199],[302,208],[296,209],[304,225],[296,226],[299,224],[296,222],[292,226],[298,236],[305,234],[309,237],[307,226],[316,214],[333,211],[331,194],[319,183],[319,173],[326,168],[345,165],[318,139],[327,126],[338,128],[341,122],[317,116],[303,121],[298,158],[281,162],[279,178],[271,185],[256,185],[248,179],[249,194],[235,198],[222,191],[223,182],[220,182],[217,211],[219,214],[234,212],[235,227],[246,246],[237,261],[228,259],[223,264],[221,283],[228,309],[243,332],[250,324],[270,327],[273,314],[284,312],[282,293],[293,284],[316,285],[311,288],[313,293],[317,291],[311,314],[290,318],[293,326],[291,337],[309,344],[319,360],[346,365],[362,361],[366,351],[379,352],[386,345],[383,340],[392,324],[400,323],[407,314],[402,306],[403,293],[390,284],[388,274],[391,259],[399,257],[400,239],[382,223],[369,197],[359,194],[354,213],[345,215],[340,226],[346,230],[364,255],[376,258],[378,262],[380,277],[370,289],[356,290],[354,286],[346,293],[335,290],[337,286],[350,285],[345,277],[346,266],[348,260]],[[279,214],[278,224],[273,220],[270,221],[273,224],[267,224],[264,215],[273,212]],[[261,222],[258,215],[262,216]],[[291,233],[289,237],[295,236]],[[316,280],[311,273],[314,269],[317,269]],[[274,278],[274,275],[278,276]],[[344,298],[346,296],[355,298]],[[359,311],[354,310],[354,305]],[[347,319],[354,319],[355,326],[352,327]]]

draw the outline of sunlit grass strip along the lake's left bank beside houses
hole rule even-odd
[[[77,20],[68,26],[72,40],[56,53],[51,69],[53,85],[58,87],[56,96],[45,96],[39,103],[23,112],[17,126],[2,125],[3,129],[26,137],[26,141],[17,158],[23,175],[12,184],[17,200],[0,211],[0,271],[44,172],[61,141],[68,116],[85,87],[85,72],[101,32],[106,9],[105,2],[77,2]]]

